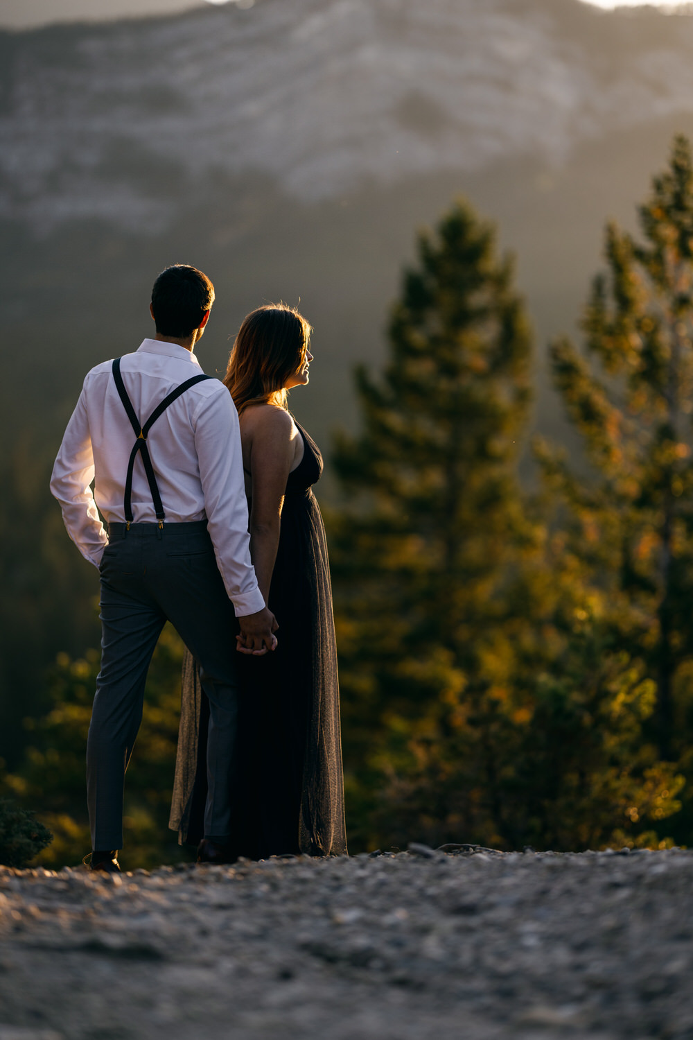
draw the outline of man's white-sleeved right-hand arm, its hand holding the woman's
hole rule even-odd
[[[205,397],[193,422],[207,529],[240,622],[242,646],[255,652],[274,649],[274,619],[265,606],[250,563],[241,434],[228,390]]]

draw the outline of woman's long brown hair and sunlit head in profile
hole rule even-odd
[[[287,304],[266,304],[246,314],[223,378],[239,415],[248,405],[287,407],[285,384],[305,361],[312,332]]]

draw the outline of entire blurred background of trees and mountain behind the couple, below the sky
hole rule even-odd
[[[88,849],[99,665],[48,475],[177,261],[216,286],[208,372],[258,303],[315,327],[351,850],[693,843],[691,44],[579,0],[0,33],[0,794],[41,862]],[[189,855],[181,656],[166,630],[126,866]]]

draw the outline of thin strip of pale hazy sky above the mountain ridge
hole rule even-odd
[[[209,3],[239,3],[252,6],[254,0],[0,0],[0,26],[18,29],[68,22],[75,19],[127,18],[133,15],[163,15]],[[598,7],[637,5],[643,0],[586,0]],[[671,6],[671,0],[649,0]]]

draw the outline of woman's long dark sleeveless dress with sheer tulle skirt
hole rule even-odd
[[[264,657],[238,654],[232,852],[249,859],[347,851],[329,563],[312,487],[323,463],[315,441],[298,428],[303,458],[287,480],[269,593],[278,646]],[[208,719],[195,661],[186,654],[169,822],[181,843],[204,836]]]

